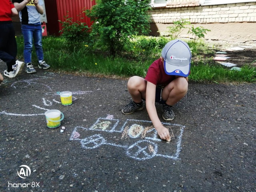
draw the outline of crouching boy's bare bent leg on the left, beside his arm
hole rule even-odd
[[[139,76],[131,77],[127,87],[135,103],[140,103],[142,98],[146,99],[147,81],[144,78]]]

